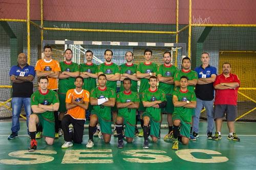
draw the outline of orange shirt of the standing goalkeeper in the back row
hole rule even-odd
[[[50,61],[46,61],[46,59],[38,60],[35,64],[35,70],[47,72],[47,71],[61,71],[59,62],[56,60],[51,59]],[[51,90],[56,90],[58,89],[58,81],[55,78],[50,78],[49,79],[49,85],[48,88]]]

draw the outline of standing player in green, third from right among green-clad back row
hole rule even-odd
[[[140,63],[137,67],[137,78],[140,79],[140,89],[139,89],[139,94],[140,94],[140,100],[142,99],[142,92],[148,88],[150,88],[150,85],[148,84],[148,79],[150,79],[151,76],[156,76],[157,72],[157,64],[151,62],[152,58],[152,50],[150,49],[145,49],[144,50],[144,63]],[[140,103],[139,106],[139,111],[140,111],[140,125],[141,125],[141,131],[139,133],[139,137],[143,136],[143,119],[142,119],[142,114],[145,111],[145,107],[143,106],[142,102]]]

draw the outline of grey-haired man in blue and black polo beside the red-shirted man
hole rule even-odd
[[[216,67],[209,65],[210,56],[208,53],[202,53],[202,65],[196,67],[198,74],[198,82],[196,85],[197,107],[195,116],[193,116],[193,136],[199,137],[199,117],[203,107],[207,114],[207,138],[212,139],[212,131],[214,131],[214,86],[213,83],[217,76]]]

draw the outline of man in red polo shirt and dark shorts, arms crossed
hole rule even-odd
[[[218,75],[214,88],[216,90],[214,102],[214,117],[216,120],[216,134],[212,139],[221,139],[222,120],[226,113],[227,126],[229,129],[229,140],[240,141],[240,138],[234,133],[234,120],[236,119],[238,89],[240,80],[235,74],[230,74],[231,65],[228,62],[222,64],[222,74]]]

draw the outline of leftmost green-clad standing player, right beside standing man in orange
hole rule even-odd
[[[65,99],[66,93],[69,89],[74,89],[74,81],[77,76],[79,76],[79,66],[77,63],[73,63],[72,57],[73,52],[70,48],[65,50],[65,61],[61,62],[60,69],[61,72],[59,74],[59,126],[61,126],[61,119],[63,118],[64,114],[67,112]],[[58,131],[59,136],[62,135],[62,130],[59,128]]]

